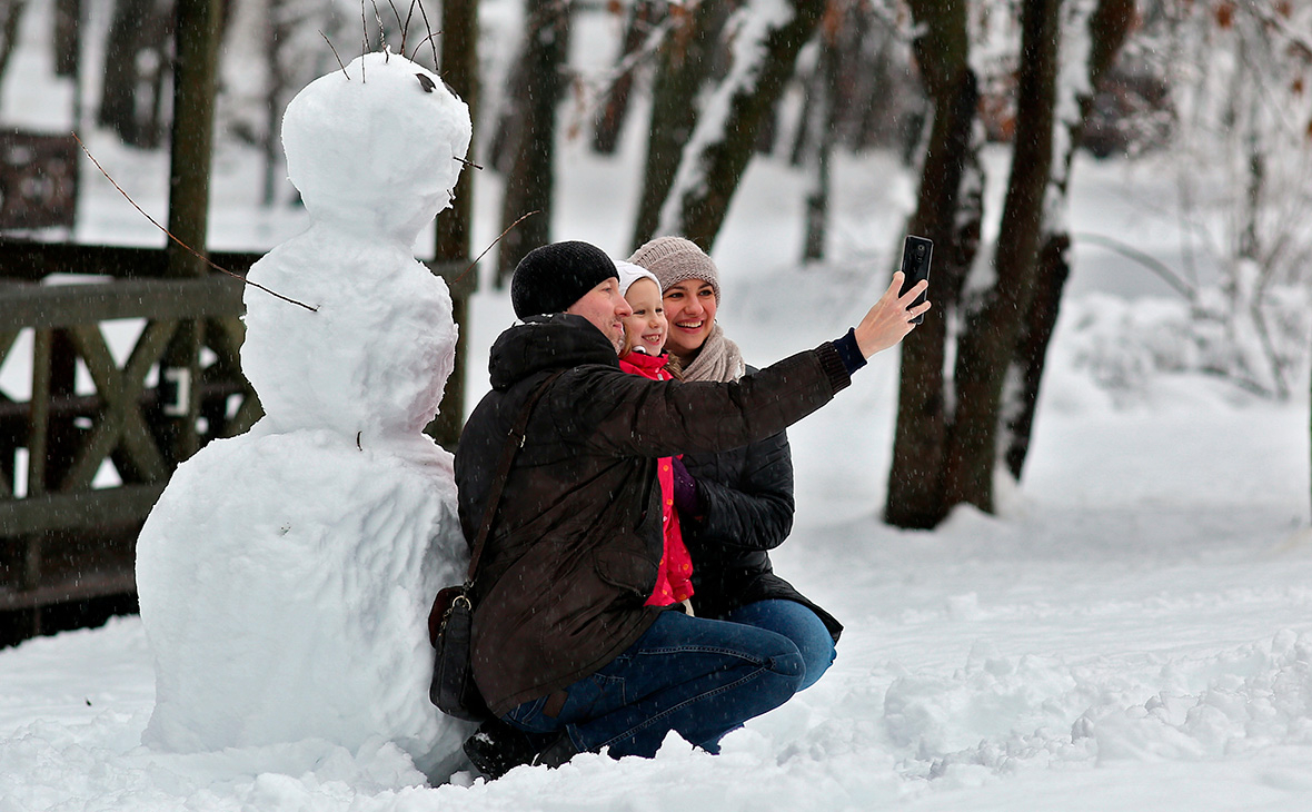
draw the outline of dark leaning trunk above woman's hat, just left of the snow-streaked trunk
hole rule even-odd
[[[723,4],[703,1],[676,22],[661,47],[652,83],[651,135],[632,245],[656,236],[660,210],[674,185],[684,144],[697,126],[697,97],[711,75],[711,51],[724,28]]]

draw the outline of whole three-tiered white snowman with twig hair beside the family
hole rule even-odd
[[[455,357],[413,258],[450,203],[470,115],[434,73],[366,54],[282,126],[310,228],[249,279],[241,366],[265,409],[178,467],[138,542],[151,748],[395,742],[429,775],[467,725],[429,703],[426,614],[463,577],[451,455],[422,433]],[[312,308],[312,310],[311,310]]]

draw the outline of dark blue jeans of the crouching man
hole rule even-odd
[[[623,653],[565,687],[554,718],[542,697],[502,719],[535,733],[564,729],[580,752],[652,757],[676,731],[715,753],[724,733],[783,704],[804,673],[783,635],[665,611]]]

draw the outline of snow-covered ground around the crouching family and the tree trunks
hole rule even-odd
[[[732,240],[771,224],[789,227],[739,219]],[[720,262],[722,319],[756,361],[836,335],[876,285]],[[478,296],[476,390],[508,321],[502,296]],[[998,517],[878,521],[892,354],[792,430],[798,527],[777,568],[846,632],[820,683],[719,757],[672,740],[653,761],[428,787],[380,741],[156,753],[140,745],[150,652],[127,618],[0,652],[0,809],[1307,809],[1307,400],[1179,374],[1115,399],[1078,367],[1075,333],[1063,321]]]

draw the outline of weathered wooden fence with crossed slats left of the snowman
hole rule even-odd
[[[257,257],[213,258],[241,273]],[[21,346],[31,370],[26,401],[0,392],[0,644],[49,631],[43,609],[134,594],[136,535],[173,468],[261,415],[239,361],[241,282],[165,268],[157,249],[0,241],[0,365]],[[139,329],[123,362],[106,341],[118,320]],[[197,332],[180,418],[164,359]]]

